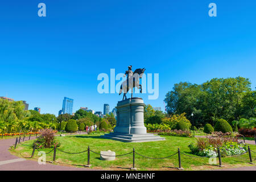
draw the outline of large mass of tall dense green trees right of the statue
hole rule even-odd
[[[164,101],[168,114],[187,113],[196,126],[214,125],[220,118],[232,122],[255,117],[256,93],[250,86],[249,79],[243,77],[213,78],[201,85],[180,82]]]

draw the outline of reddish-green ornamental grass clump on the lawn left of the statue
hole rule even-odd
[[[52,129],[40,130],[40,137],[35,140],[33,147],[36,148],[54,148],[59,147],[60,143],[55,141],[56,131]]]

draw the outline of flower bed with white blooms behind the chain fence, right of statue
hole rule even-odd
[[[199,156],[217,156],[217,148],[222,157],[240,155],[246,152],[247,146],[239,143],[237,138],[199,138],[196,144],[189,144],[192,154]]]

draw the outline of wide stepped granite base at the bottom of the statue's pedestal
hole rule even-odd
[[[146,134],[123,134],[123,133],[109,133],[101,136],[101,138],[118,140],[121,142],[155,142],[166,140],[159,135],[150,133]]]

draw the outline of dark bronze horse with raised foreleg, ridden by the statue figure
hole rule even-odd
[[[133,74],[130,74],[130,76],[127,75],[127,79],[122,82],[122,85],[120,87],[119,96],[123,92],[123,100],[127,99],[126,94],[131,89],[131,98],[133,98],[133,88],[135,86],[140,89],[139,92],[142,93],[142,86],[139,84],[139,78],[142,78],[143,73],[146,69],[145,68],[139,68],[136,69]]]

